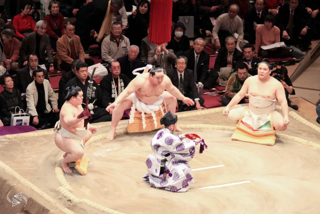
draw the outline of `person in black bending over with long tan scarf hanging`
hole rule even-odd
[[[120,10],[124,6],[123,0],[112,0],[110,8],[108,8],[108,3],[109,1],[106,0],[95,0],[86,4],[77,12],[75,25],[77,29],[76,35],[80,37],[84,50],[88,50],[89,46],[96,41],[102,41],[103,34],[109,34],[110,29],[107,28],[110,28],[109,24],[111,24],[112,21],[112,13]],[[108,10],[110,10],[111,17],[106,17]],[[101,36],[98,35],[97,32],[100,32]],[[96,36],[98,38],[95,38]]]

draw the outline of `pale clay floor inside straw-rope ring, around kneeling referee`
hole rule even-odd
[[[320,151],[277,139],[274,146],[231,141],[232,132],[184,130],[204,138],[192,168],[195,183],[186,193],[154,189],[142,182],[155,132],[116,136],[92,143],[88,174],[65,175],[73,194],[123,213],[318,213]],[[241,181],[251,183],[199,189]]]

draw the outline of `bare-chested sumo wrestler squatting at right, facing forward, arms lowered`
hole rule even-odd
[[[239,103],[244,96],[248,96],[248,112],[252,118],[266,120],[267,122],[267,120],[270,121],[270,117],[272,117],[272,125],[275,130],[286,130],[287,125],[289,124],[288,103],[285,97],[283,85],[275,78],[270,76],[271,70],[272,66],[268,62],[263,61],[259,63],[258,75],[248,77],[244,81],[244,85],[242,86],[241,90],[231,99],[230,103],[223,110],[223,115],[228,116],[232,122],[237,123],[247,107],[244,106],[232,110],[230,110],[230,108]],[[283,116],[276,111],[276,105],[274,103],[276,99],[281,105]],[[258,121],[252,121],[252,124],[257,123]]]

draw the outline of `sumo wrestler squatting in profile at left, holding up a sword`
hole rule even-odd
[[[60,111],[60,120],[56,123],[54,131],[54,142],[57,147],[64,151],[61,159],[61,167],[65,173],[72,173],[68,163],[79,160],[84,155],[84,144],[92,134],[97,132],[94,127],[84,129],[84,120],[88,116],[78,118],[84,110],[82,107],[83,92],[78,86],[71,86],[67,89],[67,100]]]

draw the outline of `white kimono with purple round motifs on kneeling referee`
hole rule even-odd
[[[189,183],[194,183],[191,167],[188,164],[195,153],[197,141],[182,139],[174,135],[169,129],[159,130],[151,140],[152,154],[145,163],[148,173],[143,181],[149,182],[151,187],[172,192],[186,192]],[[168,155],[168,157],[165,157]],[[161,160],[166,158],[166,178],[160,174]]]

